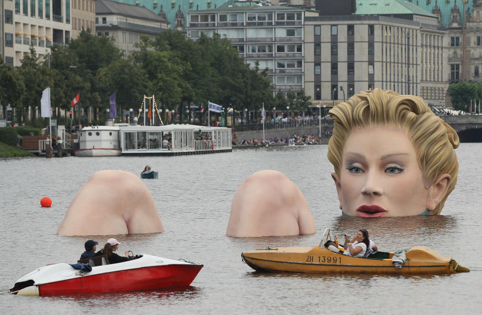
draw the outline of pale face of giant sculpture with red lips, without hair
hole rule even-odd
[[[346,215],[412,216],[427,208],[429,189],[403,131],[387,127],[352,131],[343,148],[340,176],[332,176]]]

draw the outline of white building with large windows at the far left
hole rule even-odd
[[[43,58],[52,45],[71,37],[71,0],[0,0],[2,54],[9,65],[20,66],[32,45]]]

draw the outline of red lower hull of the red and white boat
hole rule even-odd
[[[39,294],[57,295],[83,292],[115,292],[187,286],[202,265],[166,265],[85,275],[39,285]]]

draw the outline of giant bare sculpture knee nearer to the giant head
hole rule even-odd
[[[226,235],[257,237],[316,232],[303,194],[277,171],[249,176],[236,190]]]

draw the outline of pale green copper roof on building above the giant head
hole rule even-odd
[[[432,13],[402,0],[356,0],[356,15],[416,14],[436,17]]]

